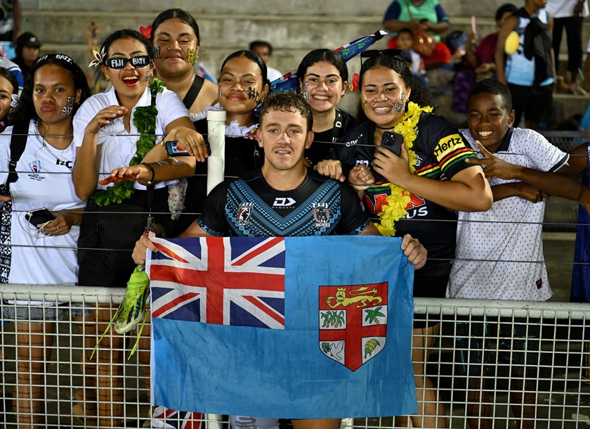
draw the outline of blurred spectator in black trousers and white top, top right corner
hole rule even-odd
[[[589,15],[586,0],[547,0],[547,12],[553,16],[553,54],[556,60],[556,72],[559,70],[559,49],[561,36],[565,28],[568,41],[568,71],[570,72],[571,94],[584,95],[586,91],[577,82],[579,69],[582,67],[582,25],[584,17]]]

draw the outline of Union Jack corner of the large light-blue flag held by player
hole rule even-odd
[[[153,241],[152,317],[284,329],[284,238]]]

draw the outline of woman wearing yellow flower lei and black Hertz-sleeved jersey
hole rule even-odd
[[[444,297],[454,257],[454,210],[488,210],[492,191],[483,170],[465,162],[476,153],[457,129],[431,114],[428,93],[414,82],[400,51],[365,51],[363,58],[360,103],[367,120],[341,140],[334,160],[320,163],[317,171],[341,178],[358,166],[372,166],[374,184],[356,188],[379,217],[379,231],[384,236],[411,233],[428,249],[426,266],[414,276],[414,296]],[[382,146],[391,137],[386,133],[403,136],[399,156]],[[404,222],[398,223],[402,218]],[[436,393],[425,373],[439,324],[416,319],[413,361],[419,411],[409,417],[411,421],[400,418],[398,424],[444,428],[442,404],[437,409]]]

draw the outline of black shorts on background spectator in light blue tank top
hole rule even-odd
[[[512,108],[516,110],[518,117],[525,115],[525,120],[536,123],[550,119],[553,109],[553,84],[539,88],[514,84],[508,84],[508,87],[512,95]]]

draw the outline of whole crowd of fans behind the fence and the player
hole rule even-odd
[[[214,84],[195,73],[201,43],[197,22],[173,8],[148,29],[107,35],[100,48],[94,46],[99,27],[91,22],[89,40],[96,49],[91,49],[88,71],[67,53],[39,57],[39,38],[21,33],[20,2],[2,3],[13,4],[13,27],[6,37],[15,42],[16,56],[14,63],[0,58],[0,182],[5,184],[0,188],[0,281],[124,287],[136,263],[144,262],[145,231],[169,237],[215,235],[218,231],[208,229],[211,219],[199,217],[209,154],[205,113],[211,108],[226,112],[225,176],[256,170],[264,177],[271,155],[260,141],[257,112],[272,92],[270,82],[281,76],[266,64],[273,46],[253,41],[248,50],[230,53]],[[480,40],[475,20],[471,34],[450,31],[437,0],[395,0],[383,23],[392,35],[389,49],[362,52],[359,75],[350,78],[345,60],[331,49],[314,49],[301,60],[299,94],[310,113],[310,120],[303,119],[313,131],[306,132],[309,144],[299,154],[310,167],[303,177],[350,184],[381,234],[411,236],[428,250],[426,265],[417,264],[414,296],[551,297],[544,264],[530,270],[523,262],[542,261],[540,223],[547,196],[577,200],[581,213],[590,210],[589,188],[576,177],[588,161],[585,144],[570,160],[535,129],[551,124],[564,27],[566,90],[585,94],[590,89],[590,61],[579,72],[586,15],[585,0],[505,4],[495,16],[498,32]],[[445,112],[433,114],[433,93],[441,82],[454,88],[452,108],[465,115],[462,131],[445,119]],[[338,108],[349,89],[360,97],[358,115]],[[398,151],[389,146],[395,135],[404,140]],[[166,141],[177,141],[191,156],[169,155]],[[461,262],[452,264],[459,256]],[[70,316],[81,331],[88,325],[80,322],[91,320],[93,333],[102,333],[116,311],[80,306],[70,309]],[[1,315],[5,323],[15,322],[18,353],[24,357],[13,392],[18,427],[42,428],[44,398],[35,387],[43,385],[51,334],[67,310],[55,302],[17,301],[5,302]],[[534,391],[535,375],[525,366],[535,366],[537,354],[526,340],[516,339],[523,325],[513,321],[511,326],[509,348],[522,354],[513,361],[512,376],[520,380],[516,385],[522,393],[513,413],[528,427],[534,398],[524,392]],[[421,408],[416,416],[398,417],[400,425],[446,425],[424,368],[432,347],[426,339],[438,329],[431,321],[414,321]],[[89,350],[96,345],[93,333],[85,332]],[[145,364],[149,335],[148,324],[140,340]],[[458,350],[473,347],[464,338],[457,340]],[[112,362],[124,358],[124,341],[124,336],[106,336],[97,345],[96,365],[84,371],[88,388],[74,395],[79,402],[74,411],[85,423],[121,424],[123,367]],[[461,354],[460,363],[472,390],[480,391],[482,374],[475,368],[481,362],[467,354],[467,360]],[[85,356],[82,366],[90,367],[89,360]],[[482,406],[489,399],[476,395],[470,400],[473,416],[489,416]],[[340,420],[307,424],[336,428]],[[479,418],[470,420],[472,428],[482,424]]]

